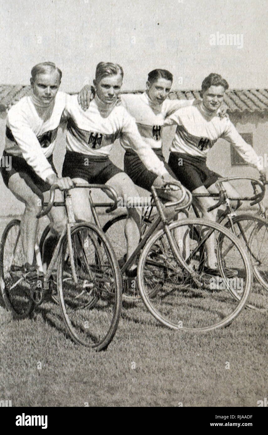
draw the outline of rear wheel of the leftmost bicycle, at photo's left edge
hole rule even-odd
[[[14,318],[22,319],[34,310],[29,285],[22,277],[24,251],[20,237],[20,221],[7,224],[0,244],[0,286],[8,311]]]

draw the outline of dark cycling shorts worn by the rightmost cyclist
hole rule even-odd
[[[192,192],[200,186],[208,188],[221,178],[217,172],[210,171],[206,160],[206,157],[171,152],[168,164],[181,184]]]

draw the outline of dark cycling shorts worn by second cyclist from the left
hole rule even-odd
[[[62,177],[82,178],[89,184],[105,184],[120,172],[123,171],[109,156],[89,156],[73,151],[66,151],[62,167]]]

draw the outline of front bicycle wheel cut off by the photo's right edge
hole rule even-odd
[[[259,310],[268,309],[268,222],[251,214],[241,214],[227,221],[225,227],[232,230],[244,244],[252,264],[254,284],[247,306]]]

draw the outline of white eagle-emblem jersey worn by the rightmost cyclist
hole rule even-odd
[[[211,115],[201,104],[177,110],[166,119],[166,124],[177,124],[171,152],[206,157],[207,152],[222,137],[230,142],[249,164],[263,169],[257,154],[237,132],[228,117]]]

